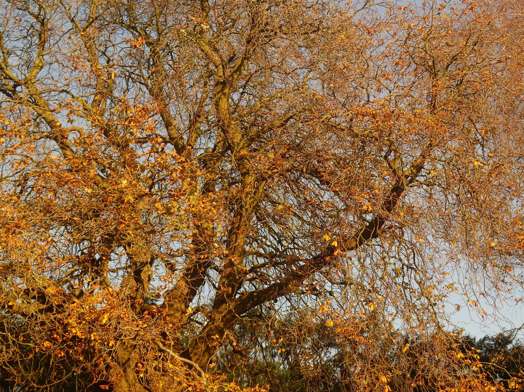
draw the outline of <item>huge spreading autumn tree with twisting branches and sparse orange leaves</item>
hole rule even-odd
[[[370,320],[407,357],[459,285],[483,312],[522,284],[521,3],[1,6],[18,390],[215,388],[253,314]]]

